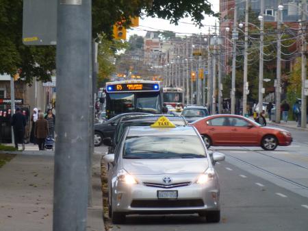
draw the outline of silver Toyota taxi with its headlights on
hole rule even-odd
[[[219,222],[214,163],[224,154],[211,158],[194,127],[127,127],[114,154],[104,157],[112,222],[123,223],[131,214],[175,213]]]

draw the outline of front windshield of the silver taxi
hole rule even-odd
[[[128,136],[125,159],[205,158],[205,148],[198,136]]]

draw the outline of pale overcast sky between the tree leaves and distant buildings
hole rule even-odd
[[[214,12],[219,11],[219,1],[218,0],[209,0],[209,3],[212,4],[212,10]],[[192,25],[192,21],[189,18],[181,19],[179,25],[175,26],[170,24],[170,21],[164,19],[157,19],[157,18],[144,18],[139,19],[139,27],[129,29],[127,31],[127,38],[133,34],[138,34],[139,36],[145,36],[146,31],[157,31],[157,30],[170,30],[172,32],[179,32],[179,33],[187,33],[189,36],[190,34],[208,34],[209,27],[208,25],[212,25],[211,30],[214,29],[216,18],[205,16],[205,19],[202,21],[204,27],[199,29],[195,25]],[[218,24],[217,24],[218,25]],[[185,34],[179,34],[185,35]]]

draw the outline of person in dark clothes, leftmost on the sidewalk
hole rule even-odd
[[[16,149],[18,149],[18,143],[21,143],[23,150],[25,150],[25,126],[26,119],[23,113],[21,113],[21,108],[16,108],[15,114],[12,116],[11,125],[14,132],[14,143]]]

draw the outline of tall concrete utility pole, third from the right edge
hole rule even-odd
[[[263,107],[263,42],[264,42],[264,0],[260,0],[260,56],[259,56],[259,110]]]

